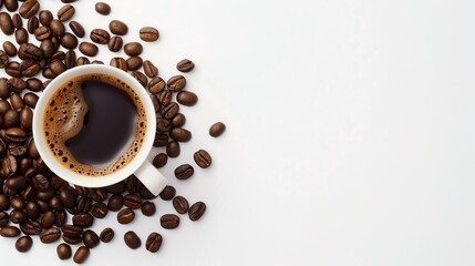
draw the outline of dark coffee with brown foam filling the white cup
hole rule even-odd
[[[130,163],[146,132],[145,106],[124,81],[85,74],[62,84],[44,111],[44,137],[54,157],[79,174],[104,176]]]

